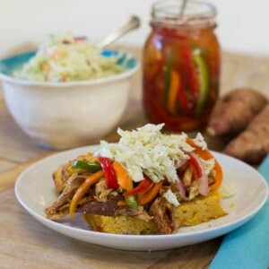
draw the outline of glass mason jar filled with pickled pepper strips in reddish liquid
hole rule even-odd
[[[164,0],[152,5],[143,48],[143,106],[168,131],[203,130],[219,95],[220,46],[212,4]]]

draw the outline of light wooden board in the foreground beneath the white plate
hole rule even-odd
[[[173,250],[135,252],[95,246],[43,226],[18,203],[13,185],[23,169],[44,157],[40,156],[0,175],[1,268],[197,269],[210,264],[221,238]]]

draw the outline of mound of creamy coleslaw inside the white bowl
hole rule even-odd
[[[13,76],[41,82],[82,81],[122,72],[117,60],[118,56],[102,56],[101,49],[86,39],[71,34],[50,35]]]

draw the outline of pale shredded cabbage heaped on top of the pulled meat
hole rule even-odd
[[[161,125],[147,124],[133,131],[117,129],[118,143],[100,142],[96,156],[119,161],[134,182],[143,180],[143,173],[157,183],[164,178],[177,182],[176,163],[187,160],[184,153],[194,150],[187,142],[187,134],[161,134]]]

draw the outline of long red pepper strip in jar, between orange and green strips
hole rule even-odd
[[[197,72],[195,70],[192,50],[188,45],[185,45],[182,48],[182,60],[184,65],[184,72],[187,78],[187,86],[192,93],[194,102],[196,103],[198,99],[199,81]]]

